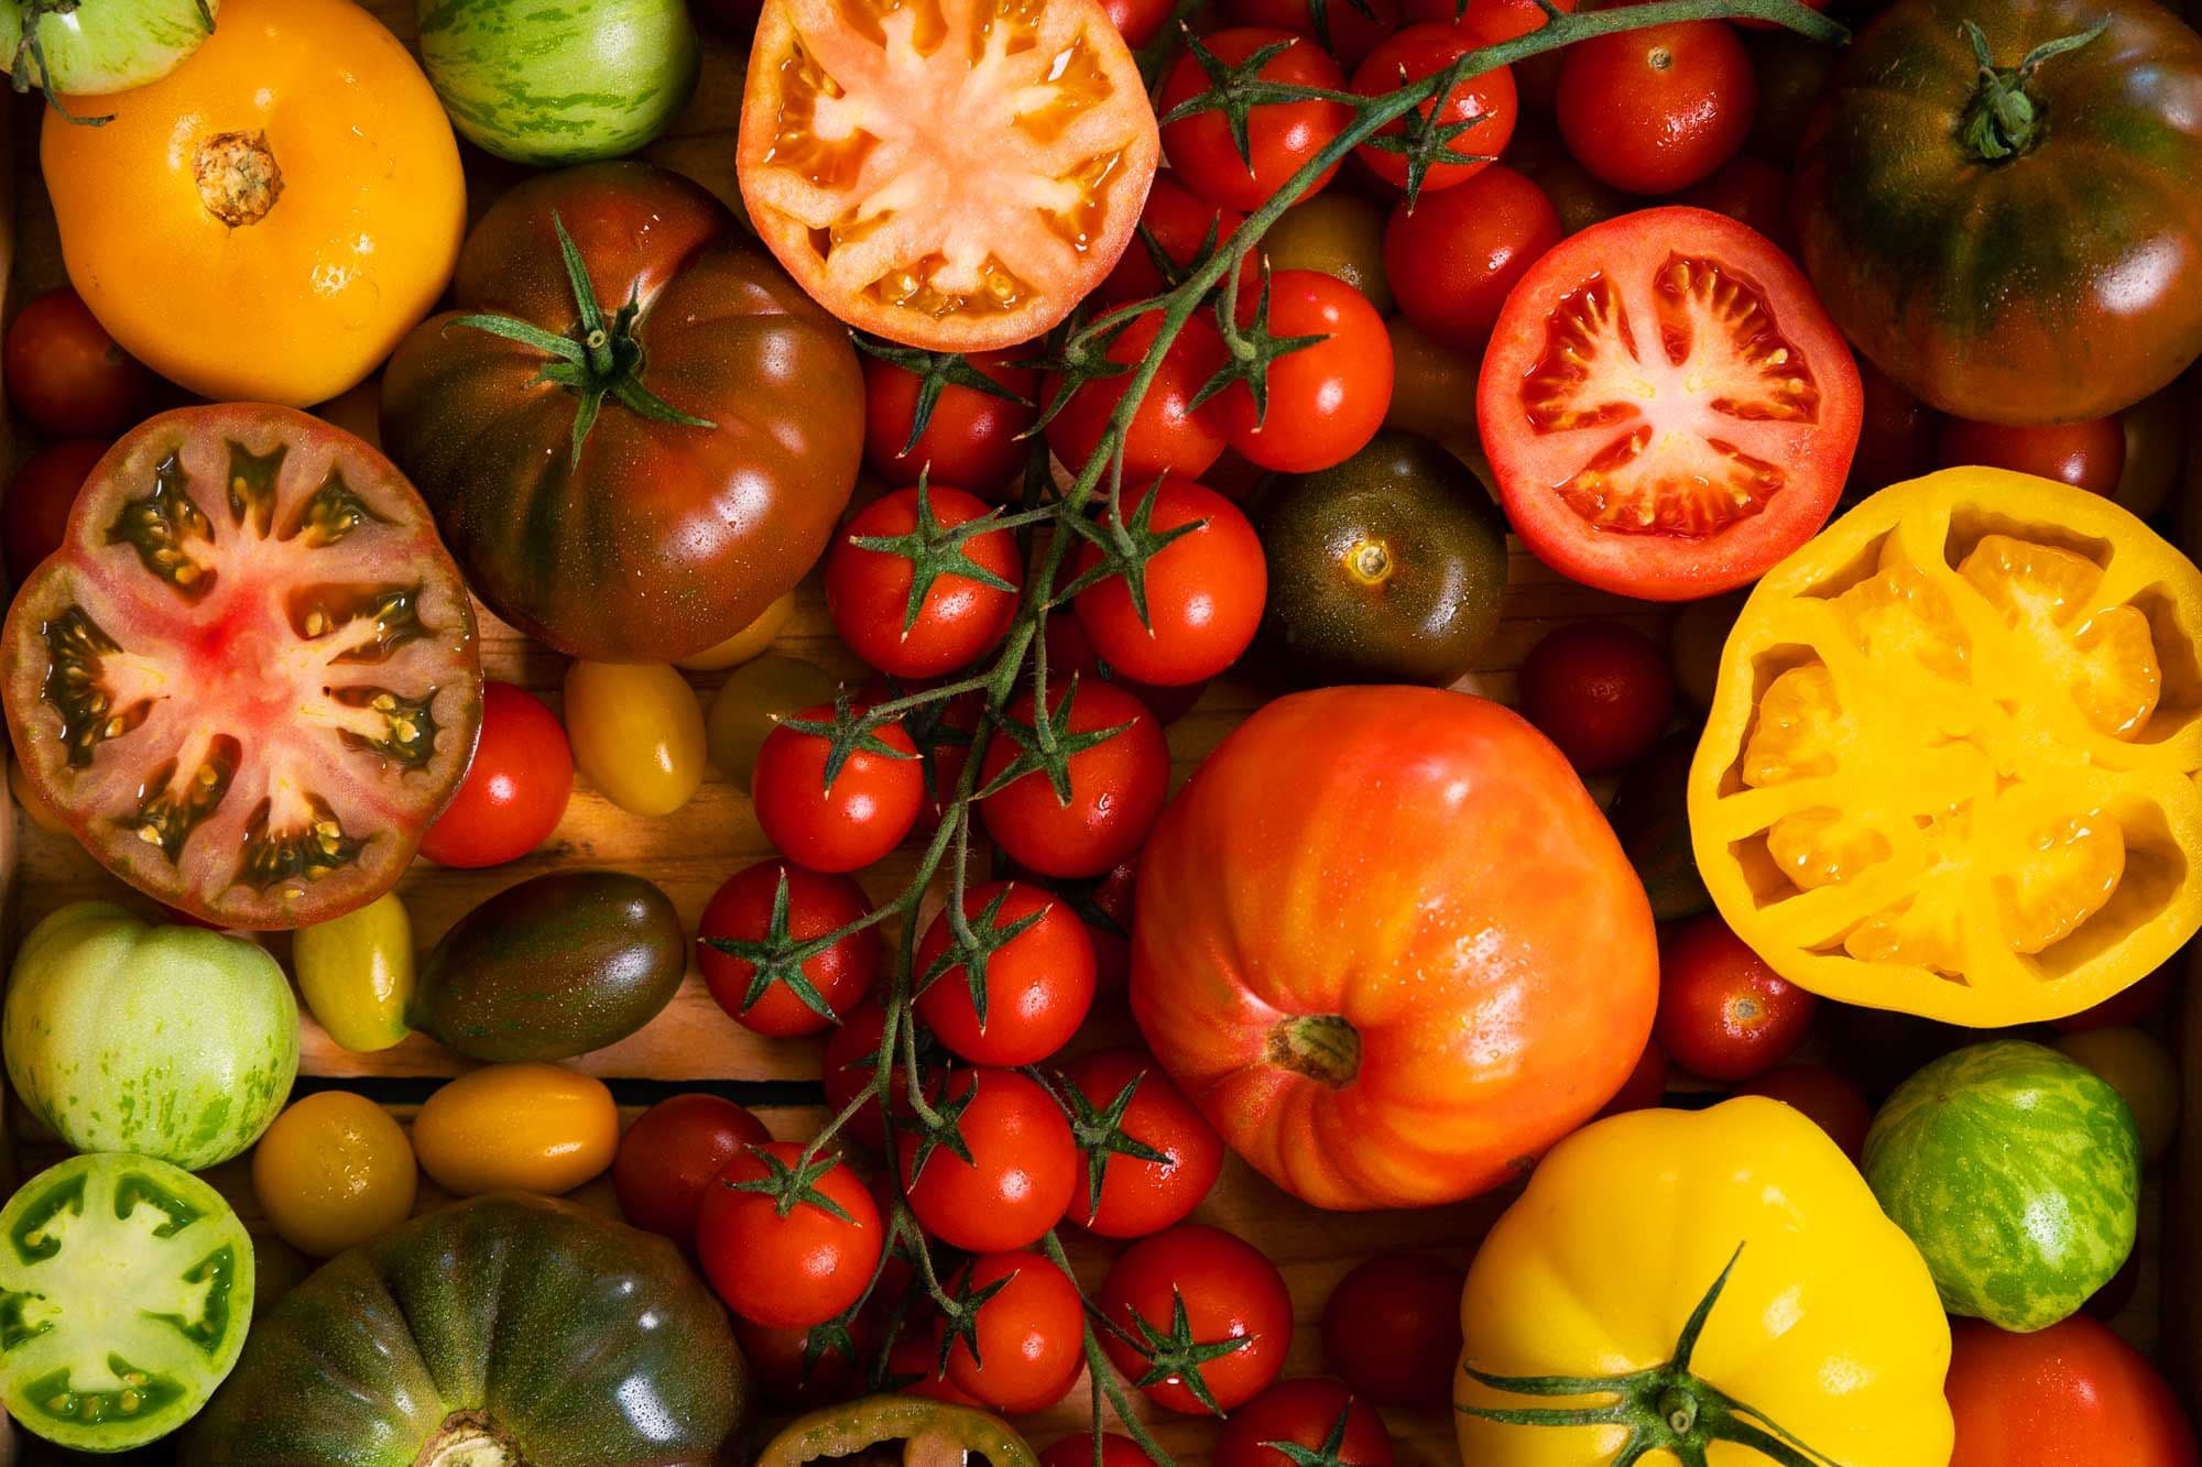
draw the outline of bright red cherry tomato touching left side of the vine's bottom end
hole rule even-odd
[[[998,1412],[1044,1412],[1086,1368],[1086,1304],[1061,1269],[1033,1251],[984,1253],[949,1284],[975,1295],[1000,1284],[978,1306],[975,1339],[949,1348],[949,1381]]]

